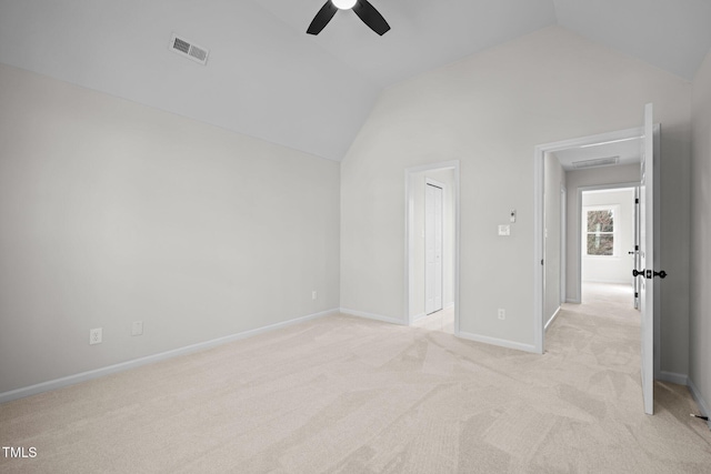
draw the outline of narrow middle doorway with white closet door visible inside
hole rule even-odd
[[[407,325],[459,334],[459,161],[405,170]]]

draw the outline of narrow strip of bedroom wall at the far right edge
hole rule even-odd
[[[690,379],[711,412],[711,53],[693,81]]]

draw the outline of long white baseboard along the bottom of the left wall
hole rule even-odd
[[[299,324],[304,321],[314,320],[318,317],[324,317],[331,314],[338,314],[338,312],[339,312],[338,309],[333,309],[333,310],[322,311],[320,313],[308,314],[306,316],[294,317],[291,320],[282,321],[280,323],[269,324],[267,326],[243,331],[237,334],[218,337],[210,341],[199,342],[197,344],[187,345],[184,347],[174,349],[172,351],[161,352],[159,354],[153,354],[153,355],[147,355],[144,357],[134,359],[132,361],[121,362],[119,364],[108,365],[106,367],[94,369],[92,371],[81,372],[81,373],[69,375],[66,377],[54,379],[48,382],[42,382],[34,385],[11,390],[9,392],[0,393],[0,403],[10,402],[11,400],[22,399],[24,396],[36,395],[42,392],[49,392],[50,390],[61,389],[63,386],[73,385],[73,384],[86,382],[92,379],[102,377],[106,375],[114,374],[117,372],[128,371],[130,369],[140,367],[142,365],[152,364],[154,362],[164,361],[167,359],[177,357],[179,355],[186,355],[186,354],[191,354],[198,351],[204,351],[206,349],[211,349],[218,345],[227,344],[229,342],[239,341],[246,337],[251,337],[257,334],[287,327],[293,324]]]

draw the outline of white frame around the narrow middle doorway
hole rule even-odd
[[[414,261],[414,177],[425,171],[445,171],[453,170],[454,184],[452,189],[453,195],[453,214],[454,214],[454,276],[452,284],[454,300],[454,335],[459,334],[459,273],[460,273],[460,163],[459,160],[443,161],[439,163],[423,164],[420,167],[410,167],[404,170],[404,314],[402,321],[405,325],[412,324],[410,315],[410,296],[414,292],[414,276],[411,270]]]

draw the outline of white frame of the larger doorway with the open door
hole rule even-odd
[[[533,346],[534,352],[539,354],[542,354],[545,350],[545,331],[543,330],[543,304],[545,302],[545,275],[543,273],[545,269],[543,265],[543,259],[545,258],[543,167],[545,164],[545,153],[554,153],[569,148],[632,139],[642,137],[643,134],[643,127],[635,127],[633,129],[538,144],[533,148]]]

